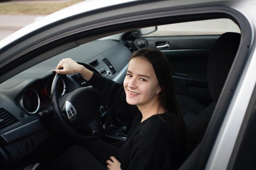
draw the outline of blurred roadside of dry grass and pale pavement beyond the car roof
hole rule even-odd
[[[31,24],[83,0],[0,0],[0,40]]]

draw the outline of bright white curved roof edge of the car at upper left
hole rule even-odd
[[[75,15],[79,15],[81,13],[85,13],[88,11],[94,11],[101,9],[103,7],[111,7],[117,4],[124,4],[127,2],[138,1],[138,0],[86,0],[77,4],[74,4],[70,7],[61,9],[55,13],[47,15],[36,22],[33,22],[22,29],[16,31],[15,33],[9,35],[7,38],[4,38],[0,41],[0,49],[4,46],[7,46],[11,42],[22,38],[23,36],[36,31],[43,26],[47,26],[54,22],[58,22],[60,20],[70,18]]]

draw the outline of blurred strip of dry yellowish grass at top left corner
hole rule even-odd
[[[0,4],[0,14],[5,15],[48,15],[84,0],[64,2],[13,2]]]

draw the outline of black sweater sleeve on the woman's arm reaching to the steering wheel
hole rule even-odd
[[[115,113],[124,114],[132,119],[136,117],[138,108],[126,102],[126,94],[121,84],[102,77],[97,73],[93,73],[88,83]]]

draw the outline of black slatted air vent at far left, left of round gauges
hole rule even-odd
[[[10,126],[18,122],[18,119],[14,117],[7,110],[0,108],[0,129]]]

